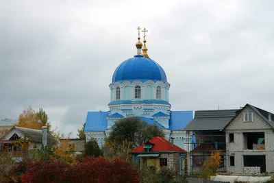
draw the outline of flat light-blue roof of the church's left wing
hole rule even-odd
[[[100,132],[107,130],[108,112],[88,112],[84,132]]]

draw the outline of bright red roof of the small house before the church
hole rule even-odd
[[[171,147],[171,143],[169,141],[166,141],[166,139],[156,136],[154,138],[152,138],[149,143],[153,143],[152,148],[150,149],[149,152],[164,152],[164,151],[179,151],[179,152],[185,152],[186,150],[178,147],[177,145],[173,145],[173,147]],[[139,147],[137,147],[136,149],[133,149],[131,151],[131,153],[142,153],[144,152],[144,146],[146,143],[140,145]]]

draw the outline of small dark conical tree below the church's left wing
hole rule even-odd
[[[84,156],[95,156],[96,158],[103,156],[103,151],[100,149],[94,138],[91,138],[90,141],[86,142]]]

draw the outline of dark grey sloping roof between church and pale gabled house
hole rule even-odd
[[[184,130],[223,130],[236,111],[238,110],[197,110],[194,119]]]

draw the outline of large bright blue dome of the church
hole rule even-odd
[[[122,62],[114,71],[112,76],[112,83],[114,82],[166,82],[166,73],[164,69],[151,60],[143,56],[134,56]]]

